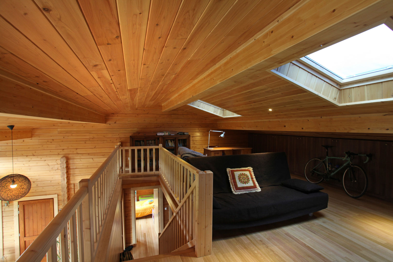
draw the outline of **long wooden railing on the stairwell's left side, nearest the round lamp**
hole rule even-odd
[[[78,191],[18,258],[18,262],[62,262],[95,260],[108,209],[118,181],[119,147],[94,172],[79,182]],[[119,186],[120,185],[120,186]]]

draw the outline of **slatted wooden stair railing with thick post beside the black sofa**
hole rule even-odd
[[[197,257],[210,255],[213,173],[196,169],[161,145],[159,150],[160,176],[178,202],[159,236],[160,254],[195,246]]]

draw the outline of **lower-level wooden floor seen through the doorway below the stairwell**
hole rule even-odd
[[[158,236],[154,231],[152,215],[136,218],[136,246],[132,248],[132,256],[136,258],[158,255]]]

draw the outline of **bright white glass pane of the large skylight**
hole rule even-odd
[[[385,24],[307,55],[342,79],[393,68],[393,31]]]

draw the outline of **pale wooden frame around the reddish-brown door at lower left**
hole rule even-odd
[[[24,198],[18,199],[14,201],[14,232],[15,232],[15,259],[20,257],[20,243],[19,243],[19,214],[18,214],[18,205],[20,201],[28,201],[28,200],[39,200],[39,199],[48,199],[53,198],[53,217],[59,213],[59,203],[57,194],[52,195],[41,195],[41,196],[26,196]]]

